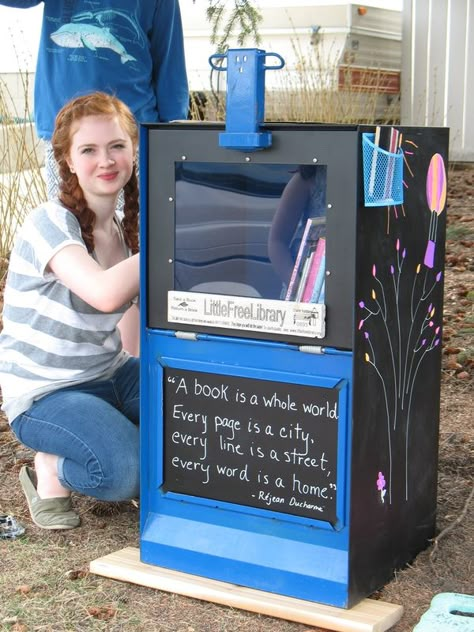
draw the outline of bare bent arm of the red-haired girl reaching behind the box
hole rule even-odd
[[[110,313],[134,299],[139,292],[139,255],[104,270],[79,245],[69,245],[49,261],[48,269],[83,301]]]

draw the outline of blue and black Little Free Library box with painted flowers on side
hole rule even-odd
[[[142,127],[140,560],[347,609],[435,534],[448,130],[265,129]]]

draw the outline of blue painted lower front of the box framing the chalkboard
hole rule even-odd
[[[142,348],[141,559],[282,595],[348,605],[351,399],[349,353],[149,330]],[[165,369],[337,389],[337,521],[163,491]],[[271,367],[271,368],[270,368]],[[278,368],[278,367],[281,367]]]

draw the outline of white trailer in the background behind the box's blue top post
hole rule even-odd
[[[181,2],[191,90],[210,88],[208,59],[215,53],[215,46],[209,41],[210,26],[203,4],[202,0],[186,5]],[[278,3],[263,6],[261,15],[260,48],[278,53],[286,61],[283,72],[266,73],[265,85],[269,89],[281,88],[282,76],[296,75],[302,61],[314,64],[317,42],[320,49],[316,52],[317,65],[321,64],[326,73],[336,72],[339,64],[348,63],[354,67],[400,71],[400,11],[366,7],[363,3],[294,0],[286,6]],[[238,47],[235,40],[230,45]],[[249,40],[245,46],[252,48],[255,43]],[[343,58],[344,53],[347,59]],[[273,62],[269,59],[268,63]]]

